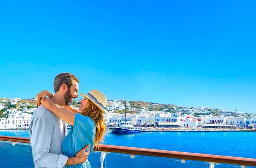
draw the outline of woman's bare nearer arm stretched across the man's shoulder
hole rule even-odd
[[[44,100],[41,99],[41,103],[45,106],[45,108],[52,111],[53,114],[55,114],[63,121],[69,123],[70,125],[74,125],[76,113],[63,108],[58,104],[55,104],[51,99],[48,98],[45,98]]]

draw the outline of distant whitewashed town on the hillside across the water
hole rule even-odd
[[[79,107],[80,100],[72,105]],[[0,129],[28,129],[36,99],[0,98]],[[141,127],[254,129],[256,114],[209,107],[174,106],[142,101],[108,100],[106,125],[129,121]]]

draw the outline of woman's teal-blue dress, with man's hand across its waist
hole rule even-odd
[[[94,121],[90,117],[76,114],[74,126],[71,126],[68,135],[64,138],[62,143],[62,151],[64,152],[64,155],[68,157],[75,157],[76,153],[83,149],[87,144],[90,144],[90,153],[93,152],[95,133],[96,127]],[[83,164],[64,166],[64,168],[90,167],[91,165],[88,159]]]

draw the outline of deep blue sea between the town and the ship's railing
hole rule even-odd
[[[29,137],[28,130],[0,130],[0,135]],[[256,158],[256,132],[146,132],[131,135],[106,134],[104,144],[163,149],[181,152],[218,154],[225,156]],[[100,165],[98,152],[91,153],[89,161],[93,168]],[[0,141],[0,167],[34,167],[31,146]],[[207,168],[203,161],[135,156],[107,153],[106,168]],[[215,168],[240,167],[239,165],[219,164]],[[247,167],[247,166],[246,166]],[[249,166],[248,166],[249,167]]]

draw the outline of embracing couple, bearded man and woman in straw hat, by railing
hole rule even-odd
[[[83,96],[80,108],[71,106],[78,97],[78,78],[60,73],[54,79],[54,94],[37,95],[29,126],[35,168],[90,168],[88,155],[103,141],[106,96],[95,89]],[[49,98],[46,98],[48,96]],[[67,133],[67,124],[71,125]]]

